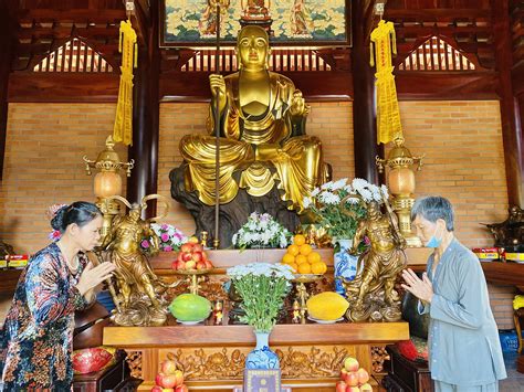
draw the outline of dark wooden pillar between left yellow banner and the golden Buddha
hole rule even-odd
[[[139,202],[146,194],[158,189],[158,138],[159,103],[158,85],[160,59],[158,49],[158,1],[150,2],[150,25],[147,42],[139,43],[138,67],[135,70],[133,98],[133,146],[128,159],[135,160],[135,168],[127,182],[127,200]],[[146,210],[147,218],[154,216],[156,206]]]

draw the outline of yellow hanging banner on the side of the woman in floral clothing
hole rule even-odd
[[[138,55],[136,33],[129,20],[120,22],[118,49],[122,53],[122,75],[113,139],[129,146],[133,144],[133,68],[137,65]]]

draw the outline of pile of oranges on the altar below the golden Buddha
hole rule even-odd
[[[282,264],[291,266],[295,274],[322,275],[327,271],[327,265],[322,261],[319,253],[306,244],[305,236],[302,234],[293,237],[293,244],[287,246]]]

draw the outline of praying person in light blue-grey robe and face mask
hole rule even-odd
[[[409,268],[402,272],[402,287],[420,299],[420,314],[430,314],[429,367],[436,392],[499,391],[506,371],[484,273],[453,235],[451,203],[440,197],[419,199],[411,220],[433,253],[422,279]]]

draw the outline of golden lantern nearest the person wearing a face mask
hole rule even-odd
[[[425,156],[413,157],[404,145],[404,138],[395,139],[394,144],[387,159],[376,157],[378,172],[381,173],[385,166],[389,167],[388,187],[394,197],[392,209],[408,246],[422,246],[420,239],[411,231],[411,206],[415,203],[415,173],[411,166],[417,165],[417,171],[420,170]]]

